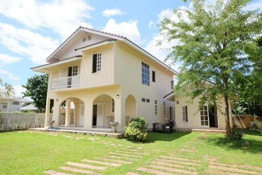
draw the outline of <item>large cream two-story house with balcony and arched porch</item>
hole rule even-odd
[[[177,72],[126,37],[79,27],[47,62],[31,68],[49,75],[46,125],[51,99],[54,126],[60,128],[106,131],[114,120],[122,131],[135,116],[149,128],[173,117],[174,102],[163,97]]]

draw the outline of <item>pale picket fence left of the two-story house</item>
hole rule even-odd
[[[52,120],[53,114],[49,115]],[[0,113],[0,130],[16,130],[45,126],[45,113]]]

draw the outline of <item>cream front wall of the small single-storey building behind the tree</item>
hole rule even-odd
[[[178,128],[192,129],[192,128],[206,128],[201,125],[199,101],[197,97],[192,103],[188,103],[189,97],[175,96],[175,113],[176,113],[176,124]],[[178,103],[177,103],[178,102]],[[187,106],[188,122],[183,121],[182,106]],[[223,98],[219,98],[217,102],[217,118],[218,118],[218,129],[225,129],[225,102]]]

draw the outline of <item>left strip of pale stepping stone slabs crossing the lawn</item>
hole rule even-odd
[[[89,140],[99,140],[89,138]],[[106,143],[106,142],[103,142]],[[95,158],[96,160],[83,159],[81,162],[67,162],[67,166],[59,167],[59,171],[48,170],[44,173],[51,175],[66,175],[71,173],[84,173],[84,174],[101,174],[102,171],[108,167],[119,167],[123,164],[132,164],[138,161],[143,156],[148,156],[146,152],[140,152],[141,147],[121,148],[114,152],[108,152],[108,155]],[[138,173],[130,172],[129,175],[136,175]]]

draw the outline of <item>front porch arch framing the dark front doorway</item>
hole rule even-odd
[[[110,121],[115,120],[115,100],[110,95],[99,95],[93,101],[92,127],[111,128]]]

